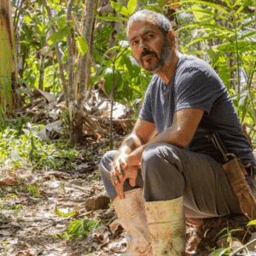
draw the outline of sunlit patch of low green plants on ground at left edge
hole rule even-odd
[[[18,120],[18,121],[17,121]],[[21,121],[20,121],[21,120]],[[45,143],[37,136],[44,125],[32,125],[27,119],[0,123],[0,168],[15,170],[17,167],[69,169],[79,152],[67,143]]]

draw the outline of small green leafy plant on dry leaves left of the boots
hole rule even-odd
[[[84,218],[82,220],[74,220],[67,229],[67,232],[59,237],[68,238],[71,240],[81,240],[84,238],[84,236],[87,236],[99,226],[100,222],[91,220],[89,218]]]

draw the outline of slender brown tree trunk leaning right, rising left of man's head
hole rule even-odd
[[[94,23],[94,12],[96,7],[96,0],[87,0],[86,20],[84,26],[84,40],[89,44],[87,53],[80,61],[79,67],[79,94],[78,104],[74,113],[73,131],[70,135],[70,143],[79,143],[83,140],[83,123],[84,123],[84,100],[85,91],[88,89],[90,82],[90,45],[92,41],[92,28]],[[88,117],[89,118],[89,117]],[[92,121],[92,120],[90,120]]]

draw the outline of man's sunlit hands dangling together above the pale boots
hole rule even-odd
[[[111,167],[111,181],[120,199],[125,198],[124,183],[126,178],[129,178],[129,183],[132,187],[136,185],[138,166],[128,166],[128,159],[128,154],[120,154],[119,157],[113,161]]]

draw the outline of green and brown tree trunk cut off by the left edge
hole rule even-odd
[[[9,78],[0,78],[0,111],[12,113],[20,107],[20,97],[16,94],[17,67],[16,45],[13,22],[11,15],[11,3],[9,0],[0,1],[0,74]]]

